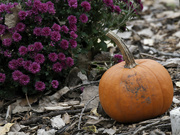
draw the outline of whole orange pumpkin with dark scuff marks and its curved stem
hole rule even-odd
[[[150,59],[134,60],[123,40],[113,32],[112,39],[125,61],[109,68],[100,79],[99,99],[104,111],[121,123],[133,123],[165,113],[173,99],[168,71]]]

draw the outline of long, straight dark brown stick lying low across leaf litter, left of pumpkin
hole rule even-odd
[[[89,112],[90,110],[91,109],[85,109],[84,112]],[[82,109],[53,111],[48,114],[44,114],[44,115],[37,116],[37,117],[32,117],[25,121],[20,121],[20,124],[22,124],[22,125],[33,124],[33,123],[36,123],[37,121],[39,121],[40,119],[42,119],[43,117],[54,117],[54,116],[64,114],[64,113],[75,114],[75,113],[80,113],[81,111],[82,111]]]

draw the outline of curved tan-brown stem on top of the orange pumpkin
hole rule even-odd
[[[109,31],[106,36],[112,39],[119,47],[125,60],[124,68],[134,68],[137,64],[134,60],[132,53],[129,51],[124,41],[112,31]]]

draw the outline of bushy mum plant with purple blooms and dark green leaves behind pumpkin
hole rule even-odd
[[[0,4],[0,97],[61,88],[76,54],[106,48],[140,0],[27,0]],[[97,42],[100,39],[101,42]]]

